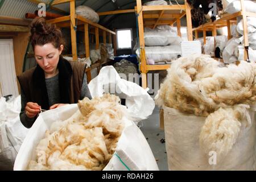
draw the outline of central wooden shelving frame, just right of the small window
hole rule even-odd
[[[180,19],[187,16],[188,40],[193,40],[191,7],[185,1],[185,5],[158,5],[158,6],[142,6],[141,0],[137,0],[135,12],[138,15],[139,28],[139,44],[140,44],[140,63],[142,73],[142,87],[147,88],[147,72],[153,70],[165,70],[170,68],[170,65],[147,65],[146,55],[144,50],[144,27],[155,28],[160,24],[173,26],[177,24],[177,34],[181,36]]]

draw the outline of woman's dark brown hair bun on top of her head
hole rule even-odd
[[[44,18],[35,18],[31,23],[31,34],[48,35],[54,32],[56,26],[46,23]]]

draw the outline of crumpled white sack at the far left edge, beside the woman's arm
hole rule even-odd
[[[20,96],[6,102],[0,98],[0,170],[12,170],[28,129],[19,119]]]

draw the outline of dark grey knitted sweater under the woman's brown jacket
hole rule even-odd
[[[59,74],[51,78],[46,78],[46,89],[48,94],[49,106],[52,106],[54,104],[59,104],[60,103]],[[34,123],[36,117],[28,118],[27,115],[25,114],[27,98],[22,90],[20,93],[20,97],[21,97],[21,105],[22,105],[20,114],[19,114],[20,121],[23,123],[24,126],[30,126],[28,123]],[[92,96],[90,96],[90,90],[87,84],[86,74],[84,74],[84,78],[82,80],[80,100],[82,100],[84,97],[88,97],[89,99],[92,99]]]

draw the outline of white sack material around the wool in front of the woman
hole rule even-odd
[[[30,160],[36,159],[35,147],[45,137],[55,121],[70,118],[79,110],[77,104],[41,113],[27,134],[16,157],[14,170],[26,170]],[[117,151],[104,170],[158,170],[154,155],[138,127],[125,118],[126,127],[117,144]]]

